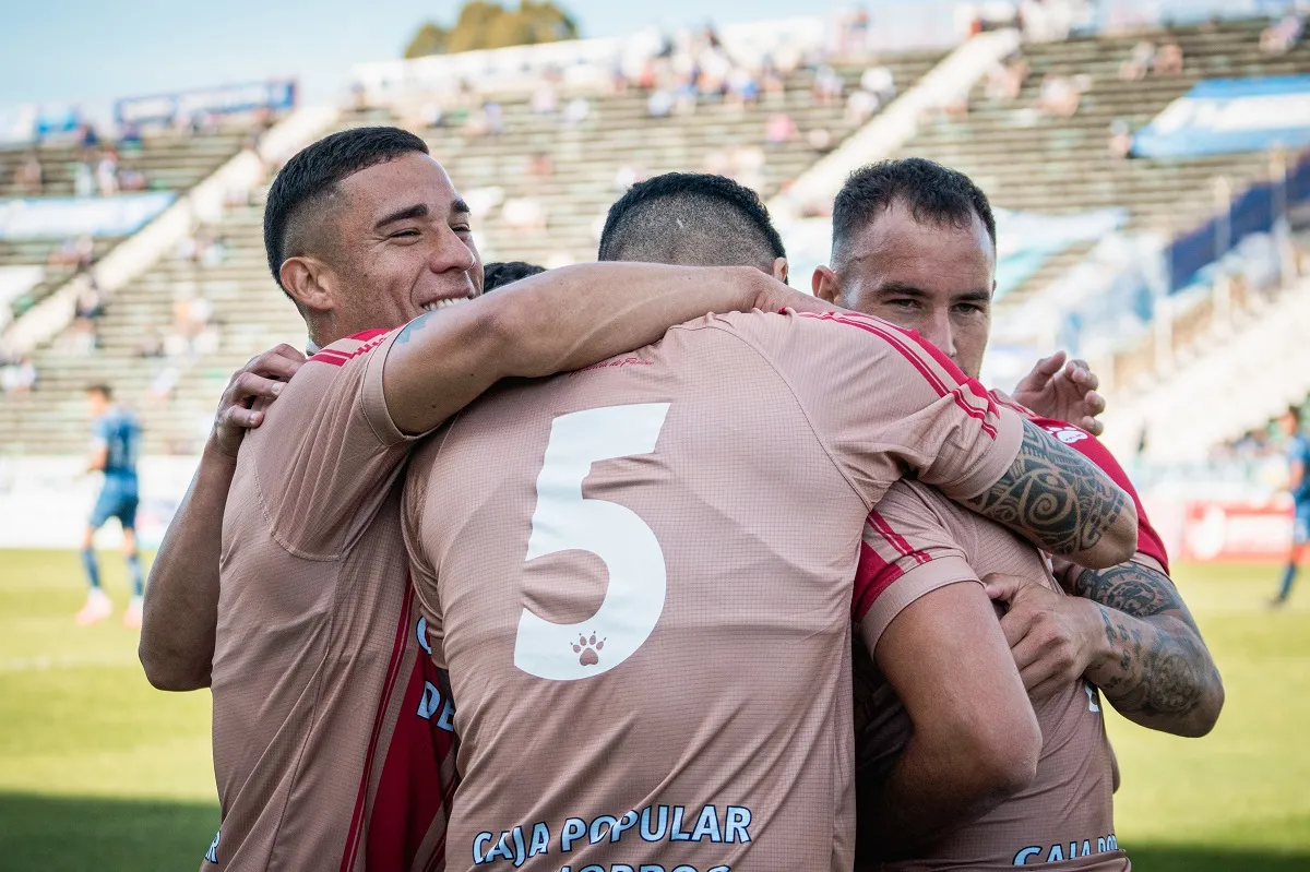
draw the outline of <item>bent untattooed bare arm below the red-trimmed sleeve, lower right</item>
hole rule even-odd
[[[976,581],[907,606],[874,660],[914,732],[891,775],[862,786],[861,841],[903,856],[992,810],[1036,774],[1041,731]]]

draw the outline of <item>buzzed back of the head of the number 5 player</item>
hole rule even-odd
[[[773,270],[787,257],[760,195],[723,175],[665,173],[609,207],[600,261]]]

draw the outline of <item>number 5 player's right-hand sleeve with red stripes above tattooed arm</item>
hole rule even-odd
[[[787,381],[869,508],[904,475],[977,496],[1018,456],[1022,416],[914,333],[855,313],[723,319]]]

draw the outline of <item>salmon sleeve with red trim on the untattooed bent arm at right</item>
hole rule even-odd
[[[959,581],[981,584],[962,543],[918,487],[897,482],[865,520],[850,617],[870,652],[914,600]]]

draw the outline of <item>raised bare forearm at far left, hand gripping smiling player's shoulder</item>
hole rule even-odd
[[[191,487],[169,524],[151,564],[138,657],[160,690],[210,686],[219,611],[219,558],[223,509],[245,431],[263,422],[257,401],[271,402],[304,363],[304,355],[278,346],[232,376],[219,402],[214,431],[200,454]]]

